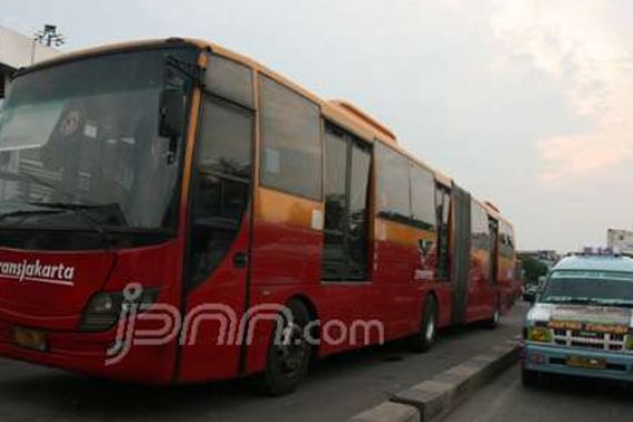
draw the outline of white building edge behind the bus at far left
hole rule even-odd
[[[7,93],[9,76],[13,70],[59,53],[59,50],[37,42],[33,37],[0,27],[0,104]]]

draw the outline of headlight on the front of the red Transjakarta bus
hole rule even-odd
[[[158,290],[144,290],[134,302],[152,304],[158,298]],[[107,331],[114,326],[121,316],[124,303],[122,292],[99,292],[90,299],[81,320],[81,331]]]

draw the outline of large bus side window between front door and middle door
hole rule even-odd
[[[320,109],[280,83],[260,78],[261,183],[311,199],[321,198]]]

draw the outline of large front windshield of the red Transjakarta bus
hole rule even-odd
[[[172,229],[182,148],[159,134],[159,102],[167,57],[185,53],[122,52],[16,78],[0,118],[0,227]]]

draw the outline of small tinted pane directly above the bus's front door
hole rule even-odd
[[[209,92],[253,108],[253,71],[250,68],[219,56],[211,56],[204,83]]]

